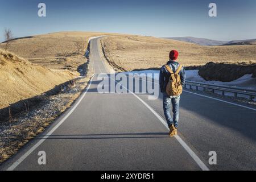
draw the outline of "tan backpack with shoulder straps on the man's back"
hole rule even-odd
[[[168,96],[179,96],[182,93],[182,84],[179,75],[182,69],[182,65],[179,65],[179,68],[177,68],[175,73],[167,64],[166,69],[168,72],[171,73],[168,84],[166,86],[166,93],[168,94]]]

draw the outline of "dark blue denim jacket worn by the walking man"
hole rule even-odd
[[[174,73],[175,73],[180,64],[177,63],[176,61],[170,60],[167,62],[167,65],[170,66],[170,68],[172,68],[172,71],[174,71]],[[184,67],[181,69],[179,75],[180,75],[181,84],[184,87],[184,85],[185,85],[185,69],[184,69]],[[163,65],[163,67],[160,69],[160,75],[159,75],[159,86],[160,86],[161,92],[164,92],[166,90],[166,86],[168,84],[170,76],[171,76],[171,74],[166,70],[165,65]]]

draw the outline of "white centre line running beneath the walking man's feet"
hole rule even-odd
[[[110,77],[111,78],[111,77]],[[111,78],[112,80],[114,80],[113,78]],[[115,80],[114,80],[115,81]],[[117,82],[117,81],[115,81]],[[117,84],[119,84],[117,82]],[[120,84],[119,84],[120,85]],[[127,89],[125,86],[123,86],[123,88],[125,88],[129,93],[133,94],[136,98],[138,98],[139,101],[141,101],[155,116],[156,118],[158,118],[160,120],[160,122],[163,123],[163,125],[168,128],[167,123],[164,121],[164,119],[158,114],[156,113],[156,111],[154,109],[152,109],[152,107],[150,107],[146,102],[144,102],[141,98],[139,98],[135,93],[131,92],[129,89]],[[195,152],[193,152],[191,150],[191,148],[183,141],[183,139],[181,139],[178,135],[175,135],[176,140],[181,144],[181,146],[183,146],[183,148],[185,149],[185,151],[188,152],[188,154],[192,157],[193,160],[195,160],[195,162],[197,163],[197,165],[203,170],[203,171],[209,171],[210,169],[203,163],[203,161],[201,161],[201,159],[196,155]]]

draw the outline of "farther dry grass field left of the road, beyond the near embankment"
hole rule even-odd
[[[8,51],[43,67],[76,72],[85,63],[83,55],[89,38],[100,35],[111,34],[73,31],[28,36],[12,40]],[[0,44],[0,48],[5,48],[5,44]]]

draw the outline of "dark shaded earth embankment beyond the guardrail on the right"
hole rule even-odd
[[[199,69],[199,75],[205,80],[233,81],[243,75],[256,77],[256,64],[249,63],[207,63]]]

